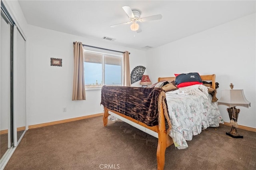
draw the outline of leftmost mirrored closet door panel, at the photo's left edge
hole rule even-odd
[[[0,156],[13,145],[12,129],[12,32],[13,25],[1,10],[0,20]]]

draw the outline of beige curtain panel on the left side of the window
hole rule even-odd
[[[74,79],[72,100],[85,100],[84,84],[84,49],[82,42],[75,42],[74,46]]]

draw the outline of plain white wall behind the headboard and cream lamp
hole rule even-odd
[[[146,51],[148,74],[153,82],[174,73],[216,74],[222,89],[244,89],[249,109],[240,109],[238,124],[256,128],[256,17],[255,14]],[[175,34],[175,33],[173,33]],[[229,122],[225,105],[219,105]]]

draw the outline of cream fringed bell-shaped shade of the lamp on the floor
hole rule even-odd
[[[226,105],[228,107],[251,106],[251,103],[245,98],[244,90],[232,89],[232,90],[222,90],[220,100],[218,100],[218,105]]]

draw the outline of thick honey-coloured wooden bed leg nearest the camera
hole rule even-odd
[[[167,147],[166,144],[166,128],[165,128],[165,119],[164,119],[164,109],[160,107],[160,116],[162,119],[158,125],[158,146],[156,151],[156,158],[157,158],[157,169],[163,170],[164,169],[164,162],[165,162],[165,150]]]

